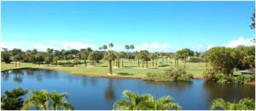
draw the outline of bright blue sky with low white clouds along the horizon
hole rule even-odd
[[[97,49],[113,42],[116,50],[134,44],[203,51],[247,44],[253,8],[254,2],[2,2],[2,47]]]

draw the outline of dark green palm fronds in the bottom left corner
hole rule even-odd
[[[1,97],[1,108],[3,110],[20,110],[24,102],[22,96],[26,93],[27,91],[22,88],[15,88],[12,92],[4,92]]]

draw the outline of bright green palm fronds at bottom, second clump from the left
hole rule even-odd
[[[67,103],[67,93],[58,94],[57,92],[32,91],[24,102],[23,110],[38,108],[40,110],[73,110],[73,106]]]

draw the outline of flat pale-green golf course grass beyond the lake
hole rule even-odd
[[[60,62],[68,62],[66,61],[59,61]],[[81,62],[84,62],[81,60]],[[154,61],[155,62],[155,61]],[[71,60],[72,63],[72,60]],[[148,72],[164,72],[165,69],[169,69],[170,67],[174,67],[174,62],[172,59],[158,59],[158,65],[165,64],[165,67],[152,67],[152,61],[148,62],[148,69],[142,69],[142,63],[141,68],[137,68],[137,60],[129,61],[127,59],[124,60],[124,67],[121,67],[121,61],[120,61],[120,68],[113,67],[113,73],[119,77],[143,77]],[[183,67],[183,63],[179,61],[179,67]],[[4,64],[1,63],[1,70],[6,69],[15,69],[15,63],[11,64]],[[47,66],[47,64],[41,64],[38,66],[38,64],[31,64],[31,63],[21,63],[21,67],[32,67],[32,68],[41,68],[41,69],[53,69],[53,70],[59,70],[63,72],[67,72],[70,74],[76,74],[76,75],[96,75],[96,76],[109,76],[108,74],[108,62],[107,61],[100,61],[100,64],[96,64],[96,67],[92,67],[90,64],[88,64],[87,68],[84,68],[84,64],[78,64],[77,67],[61,67],[61,66],[55,66],[54,64],[50,64]],[[144,64],[144,67],[146,67],[146,64]],[[19,67],[18,67],[19,68]],[[192,73],[195,77],[202,77],[203,70],[206,69],[205,63],[187,63],[186,70],[189,73]]]

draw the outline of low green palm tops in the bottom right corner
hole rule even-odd
[[[222,98],[212,101],[211,109],[223,108],[224,110],[255,110],[253,99],[242,98],[238,103],[225,102]]]

